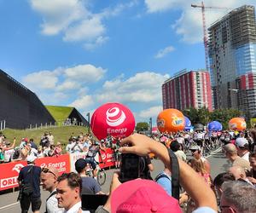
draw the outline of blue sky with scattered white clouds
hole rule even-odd
[[[137,122],[155,121],[161,84],[183,68],[205,67],[201,9],[190,3],[201,1],[0,0],[0,68],[45,105],[77,107],[85,116],[120,102]],[[207,26],[228,11],[207,10]]]

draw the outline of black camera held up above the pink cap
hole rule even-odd
[[[152,180],[148,169],[148,158],[148,156],[141,157],[137,154],[122,153],[119,181],[125,182],[137,178]]]

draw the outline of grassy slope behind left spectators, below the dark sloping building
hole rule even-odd
[[[78,136],[80,132],[87,133],[88,128],[83,126],[61,126],[55,128],[43,128],[38,130],[3,130],[3,135],[7,137],[8,141],[13,141],[16,137],[16,145],[20,144],[22,138],[26,137],[28,139],[33,138],[38,144],[41,140],[41,136],[44,135],[45,131],[51,131],[52,135],[55,137],[56,142],[60,141],[62,144],[67,144],[67,141],[71,135]]]

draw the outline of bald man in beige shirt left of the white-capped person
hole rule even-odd
[[[230,161],[232,162],[232,166],[241,166],[241,168],[243,168],[244,170],[251,170],[250,167],[250,163],[239,157],[237,154],[237,149],[236,146],[232,143],[229,143],[225,146],[225,154],[226,154],[226,158],[230,159]]]

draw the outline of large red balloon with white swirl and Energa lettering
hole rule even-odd
[[[133,133],[135,119],[132,112],[122,104],[107,103],[93,113],[90,128],[98,140],[108,135],[127,137]]]

